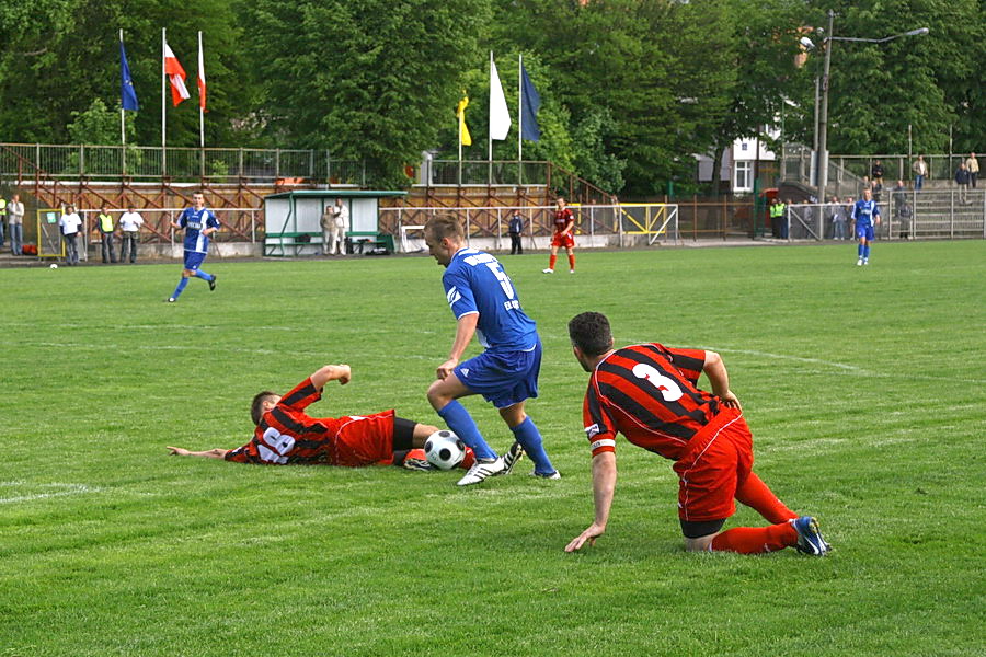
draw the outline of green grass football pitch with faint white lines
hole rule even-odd
[[[544,342],[529,412],[563,474],[260,468],[249,400],[353,366],[314,415],[438,424],[451,344],[427,257],[0,270],[0,656],[983,655],[986,242],[505,256]],[[565,324],[725,358],[757,472],[825,558],[683,550],[670,464],[618,445],[592,520]],[[470,353],[474,353],[473,349]],[[495,411],[466,402],[488,439]],[[727,527],[761,525],[741,509]]]

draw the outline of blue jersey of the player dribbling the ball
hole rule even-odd
[[[527,351],[538,344],[538,331],[520,308],[513,281],[500,262],[475,249],[460,249],[442,277],[456,320],[479,313],[477,336],[486,349]]]

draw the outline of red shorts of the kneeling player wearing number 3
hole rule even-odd
[[[736,512],[736,488],[753,470],[753,436],[738,412],[724,411],[719,426],[674,465],[678,475],[678,517],[702,522]]]

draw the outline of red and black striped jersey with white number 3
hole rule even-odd
[[[593,456],[615,451],[616,434],[633,445],[678,460],[696,434],[724,407],[697,388],[706,364],[701,349],[660,344],[617,349],[596,366],[583,404]]]

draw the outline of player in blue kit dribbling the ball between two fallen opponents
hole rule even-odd
[[[538,396],[541,341],[534,320],[524,313],[513,281],[489,253],[467,249],[462,226],[455,217],[433,217],[425,224],[428,252],[445,267],[442,283],[456,316],[456,338],[448,359],[438,366],[428,388],[428,402],[462,441],[475,452],[475,463],[458,485],[479,484],[507,474],[524,452],[535,463],[534,474],[560,479],[551,464],[537,426],[524,412],[524,402]],[[485,350],[459,362],[479,337]],[[459,397],[482,394],[500,410],[516,441],[503,457],[486,443]]]

